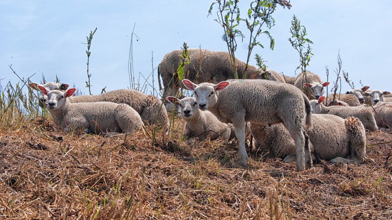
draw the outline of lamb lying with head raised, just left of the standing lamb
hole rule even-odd
[[[226,141],[233,137],[231,136],[234,135],[232,124],[221,123],[211,112],[199,110],[195,98],[177,99],[169,96],[166,99],[172,104],[180,106],[181,118],[186,122],[184,136],[187,139],[198,137],[199,141],[203,141],[210,136],[211,140],[221,137]]]

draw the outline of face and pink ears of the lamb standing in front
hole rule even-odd
[[[216,92],[225,89],[229,85],[227,81],[222,81],[218,84],[200,83],[196,85],[188,79],[183,79],[182,83],[185,87],[195,92],[196,102],[199,103],[198,107],[202,111],[214,106],[218,101]]]

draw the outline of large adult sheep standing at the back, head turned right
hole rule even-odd
[[[227,79],[234,79],[233,67],[228,52],[205,49],[188,49],[188,52],[190,63],[184,67],[184,79],[196,83],[219,83]],[[159,90],[163,89],[163,98],[178,94],[181,82],[178,79],[177,68],[183,59],[182,54],[183,50],[173,50],[166,54],[159,63],[158,85]],[[235,59],[235,61],[238,78],[243,78],[246,64],[238,59]],[[263,70],[249,65],[246,78],[262,79],[263,73]],[[162,77],[163,88],[160,77]],[[166,105],[166,109],[171,110],[172,105]]]

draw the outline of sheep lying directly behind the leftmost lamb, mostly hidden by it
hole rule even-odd
[[[61,85],[64,86],[62,87]],[[60,89],[65,88],[65,90],[69,86],[68,84],[61,85]],[[42,97],[44,97],[45,100],[44,94]],[[136,112],[140,114],[144,124],[156,124],[164,132],[169,128],[169,117],[167,112],[162,109],[162,101],[160,101],[160,99],[155,96],[145,95],[144,93],[137,90],[119,89],[93,96],[72,96],[68,99],[71,103],[89,103],[99,101],[113,102],[118,104],[124,103],[131,106],[134,110],[136,110]],[[47,105],[47,102],[45,102],[45,105]]]

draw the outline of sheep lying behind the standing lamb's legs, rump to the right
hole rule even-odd
[[[263,155],[281,158],[283,162],[296,160],[294,141],[282,124],[251,123],[250,130],[256,150]],[[320,158],[332,163],[359,163],[365,156],[366,132],[358,118],[314,114],[312,127],[305,128],[305,133],[309,137],[312,160]]]

